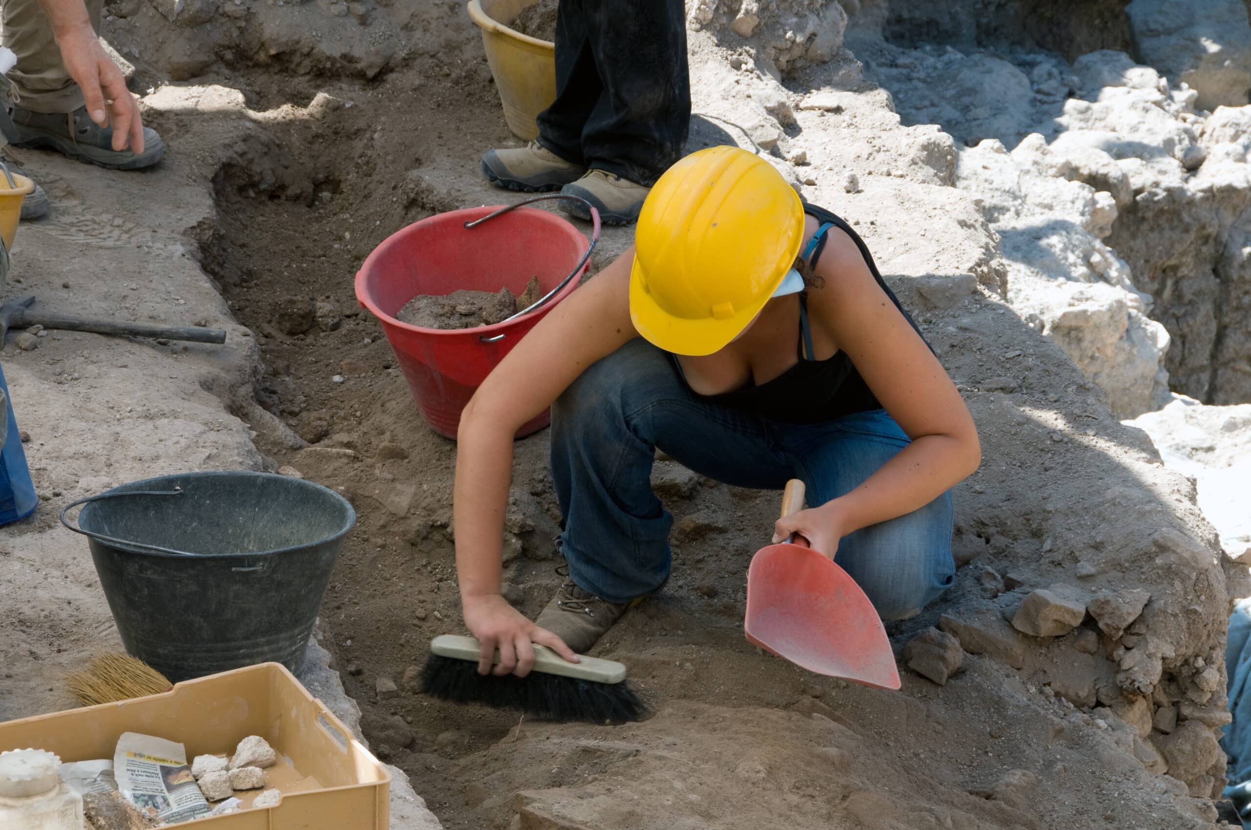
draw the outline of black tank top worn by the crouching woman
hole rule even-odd
[[[873,262],[873,256],[868,252],[868,248],[859,238],[859,234],[824,208],[804,205],[803,211],[814,218],[819,224],[819,230],[813,236],[812,244],[809,244],[809,248],[813,244],[814,248],[811,248],[808,261],[816,266],[821,251],[826,248],[826,231],[829,228],[837,228],[843,231],[856,242],[856,248],[859,249],[861,256],[864,258],[864,264],[868,265],[873,279],[877,280],[877,284],[886,291],[886,295],[891,298],[894,308],[899,309],[908,324],[919,335],[921,330],[917,329],[917,324],[904,311],[903,306],[899,305],[898,298],[894,296],[894,292],[882,279],[877,265]],[[882,408],[877,398],[873,396],[873,392],[869,391],[868,384],[864,382],[856,366],[852,365],[851,358],[841,349],[828,360],[816,359],[812,349],[812,334],[808,328],[807,298],[802,294],[799,295],[798,352],[799,362],[759,386],[748,381],[747,386],[719,395],[694,394],[709,402],[791,424],[818,424],[842,418],[843,415]],[[682,375],[682,366],[678,364],[677,356],[671,355],[671,359],[678,374]],[[684,376],[683,380],[686,380]]]

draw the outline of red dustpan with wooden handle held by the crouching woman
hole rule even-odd
[[[803,508],[803,482],[791,480],[782,515]],[[831,678],[898,689],[899,672],[873,604],[833,560],[802,538],[757,551],[747,569],[747,640]]]

